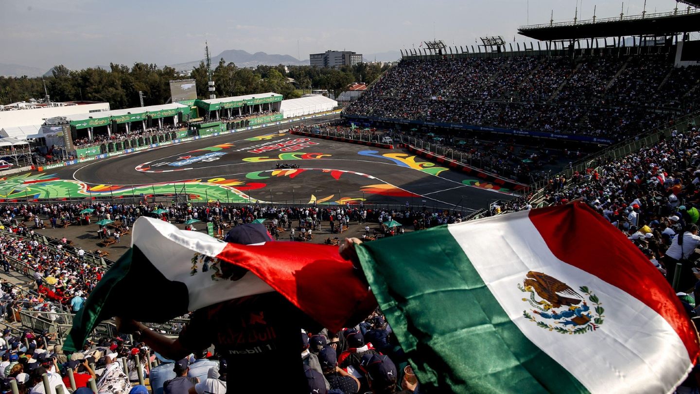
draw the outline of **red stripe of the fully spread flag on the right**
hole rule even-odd
[[[698,337],[682,304],[664,276],[621,231],[583,203],[531,210],[529,218],[556,258],[631,294],[666,319],[695,362]]]

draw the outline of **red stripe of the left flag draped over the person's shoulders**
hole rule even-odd
[[[290,246],[286,242],[228,243],[216,257],[255,273],[328,330],[354,325],[376,308],[362,273],[340,257],[337,246]]]

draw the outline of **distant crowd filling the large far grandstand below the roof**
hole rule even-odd
[[[346,113],[624,140],[692,110],[698,81],[666,55],[405,60]]]

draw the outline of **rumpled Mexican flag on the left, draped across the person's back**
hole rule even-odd
[[[159,219],[134,224],[131,249],[97,283],[73,319],[64,349],[76,351],[102,320],[123,315],[167,322],[204,306],[279,292],[330,330],[355,325],[377,306],[337,246],[224,243]]]

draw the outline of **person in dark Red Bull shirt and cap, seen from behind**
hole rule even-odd
[[[272,242],[262,224],[242,224],[231,229],[225,242],[241,245]],[[234,276],[244,276],[245,269],[232,266]],[[255,381],[262,393],[302,387],[306,376],[297,344],[303,328],[320,331],[323,327],[278,292],[264,292],[219,302],[197,309],[177,339],[148,329],[143,323],[117,318],[120,332],[139,334],[141,341],[172,360],[197,353],[211,344],[228,365],[235,365],[227,376],[231,387],[241,381]],[[276,379],[269,379],[263,367],[273,362],[283,366]],[[296,367],[295,367],[296,365]]]

